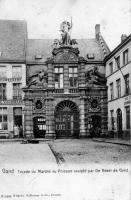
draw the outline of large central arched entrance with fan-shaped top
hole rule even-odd
[[[56,137],[79,136],[79,111],[72,101],[62,101],[55,109],[55,132]]]

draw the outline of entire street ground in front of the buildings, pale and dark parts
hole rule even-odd
[[[92,141],[58,139],[39,144],[0,144],[0,163],[125,164],[131,161],[131,146]]]

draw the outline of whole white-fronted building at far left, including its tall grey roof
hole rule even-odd
[[[0,138],[13,138],[23,124],[26,41],[26,22],[0,20]]]

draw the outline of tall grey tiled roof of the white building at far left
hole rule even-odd
[[[21,20],[0,20],[0,61],[25,60],[27,26]]]

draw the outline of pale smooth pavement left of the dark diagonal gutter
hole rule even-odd
[[[0,165],[13,164],[41,164],[56,165],[56,159],[47,143],[22,144],[1,143],[0,145]]]

